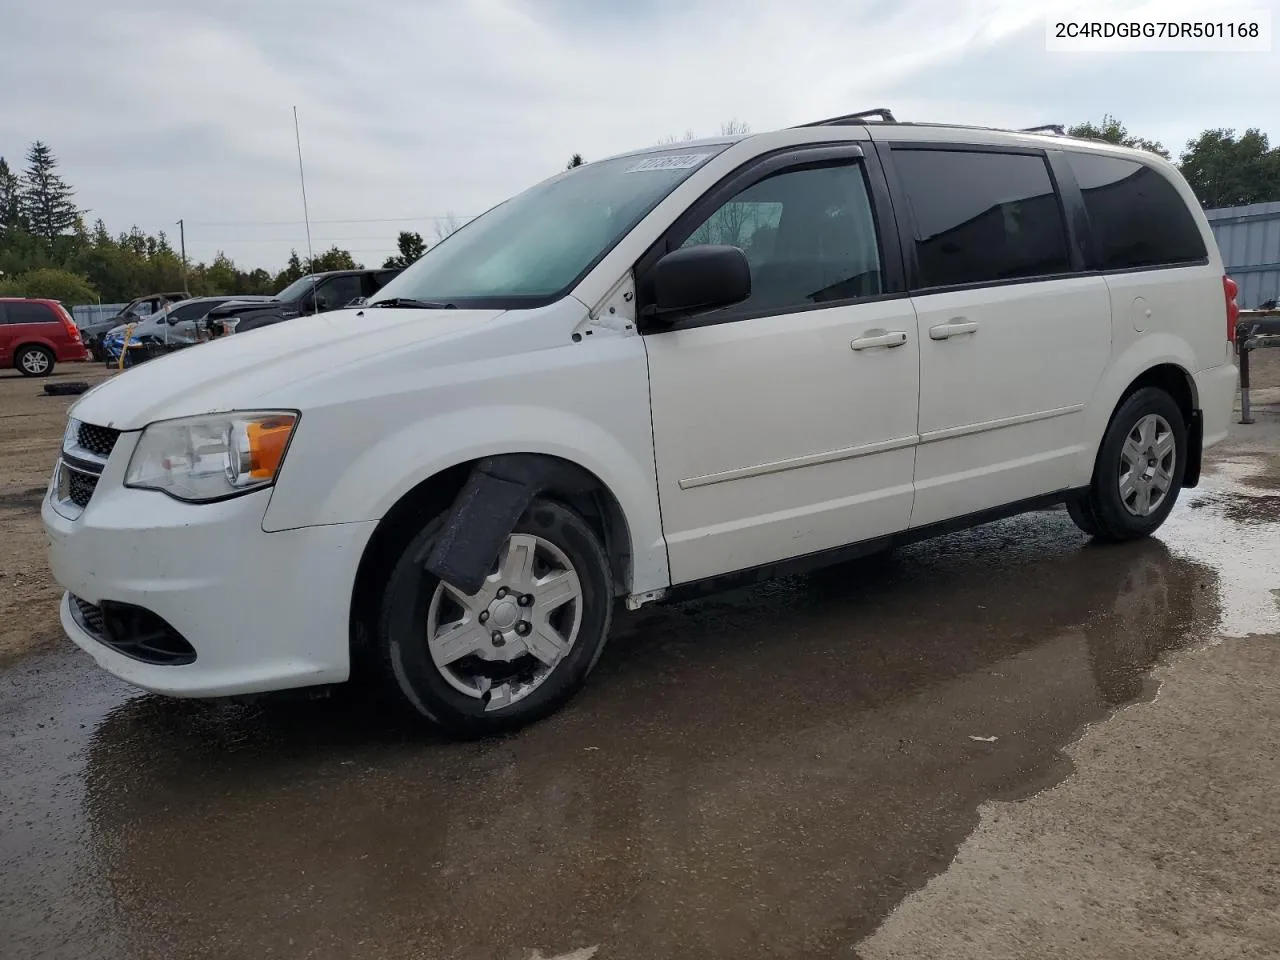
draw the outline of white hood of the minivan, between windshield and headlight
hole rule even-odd
[[[223,337],[132,367],[84,393],[70,415],[140,430],[155,420],[300,406],[288,388],[383,353],[467,335],[502,310],[335,310]]]

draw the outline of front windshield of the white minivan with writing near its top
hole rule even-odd
[[[557,298],[727,146],[700,143],[566,170],[431,247],[370,302],[411,298],[497,307]]]

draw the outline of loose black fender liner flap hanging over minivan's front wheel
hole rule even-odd
[[[531,453],[485,457],[453,500],[440,536],[415,561],[462,593],[477,593],[507,535],[538,494],[549,489],[581,494],[595,486],[595,477],[564,461]]]

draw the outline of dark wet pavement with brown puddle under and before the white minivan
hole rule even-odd
[[[497,741],[27,658],[0,673],[0,956],[858,956],[1164,655],[1280,632],[1277,476],[1228,458],[1143,543],[1052,511],[645,608]]]

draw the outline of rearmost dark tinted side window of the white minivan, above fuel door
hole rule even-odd
[[[1068,154],[1101,270],[1203,260],[1204,238],[1187,202],[1162,173],[1135,160]]]

